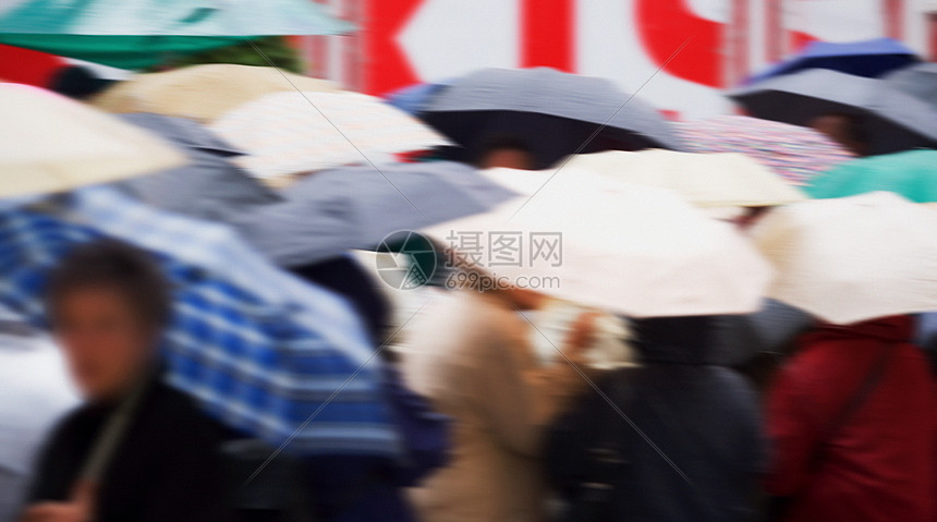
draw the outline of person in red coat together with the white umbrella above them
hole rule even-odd
[[[768,393],[776,520],[937,514],[937,388],[910,315],[937,308],[934,224],[877,192],[781,207],[755,231],[778,268],[768,295],[819,321]]]

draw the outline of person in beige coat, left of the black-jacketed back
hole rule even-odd
[[[424,522],[535,522],[543,427],[585,385],[563,357],[537,363],[530,325],[474,291],[435,303],[403,347],[411,386],[454,422],[449,466],[413,494]]]

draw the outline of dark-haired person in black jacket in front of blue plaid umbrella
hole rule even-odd
[[[162,384],[168,284],[143,253],[78,246],[52,270],[47,313],[85,403],[40,452],[23,522],[226,520],[224,429]]]

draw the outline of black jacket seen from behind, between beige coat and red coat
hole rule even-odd
[[[635,321],[642,366],[599,381],[641,430],[589,391],[547,441],[550,478],[569,499],[589,482],[589,449],[609,426],[629,464],[618,469],[611,520],[706,522],[751,520],[764,439],[757,399],[745,380],[710,365],[709,317]],[[614,380],[614,381],[613,381]],[[618,421],[621,424],[614,425]],[[616,429],[612,427],[612,429]]]

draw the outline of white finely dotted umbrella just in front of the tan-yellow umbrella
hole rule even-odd
[[[449,142],[406,113],[357,93],[278,93],[226,113],[210,129],[250,155],[234,161],[276,179]]]

